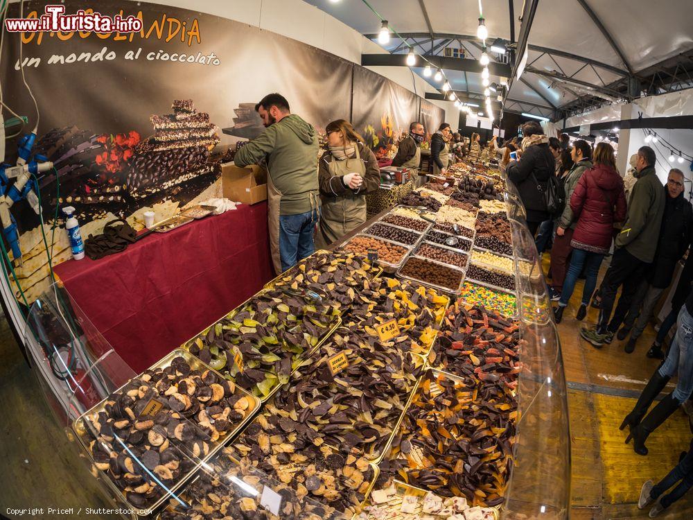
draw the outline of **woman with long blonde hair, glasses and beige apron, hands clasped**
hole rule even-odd
[[[326,247],[366,221],[366,193],[380,187],[380,168],[349,121],[327,125],[329,150],[319,160],[322,210],[316,242]]]

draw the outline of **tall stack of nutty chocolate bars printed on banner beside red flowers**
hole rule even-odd
[[[209,114],[197,112],[191,99],[175,100],[173,114],[150,117],[155,135],[134,150],[127,184],[141,198],[193,179],[211,169],[211,148],[219,143]]]

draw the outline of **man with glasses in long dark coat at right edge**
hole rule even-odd
[[[666,202],[662,230],[659,235],[657,252],[653,263],[650,264],[645,278],[638,287],[638,293],[631,301],[628,314],[623,321],[623,327],[616,337],[626,343],[625,351],[631,354],[635,343],[647,326],[654,307],[660,296],[674,277],[676,263],[681,260],[688,249],[693,233],[693,207],[685,199],[683,193],[683,172],[678,168],[669,171],[666,186]],[[637,318],[637,320],[636,320]]]

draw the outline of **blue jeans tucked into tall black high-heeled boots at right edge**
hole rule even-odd
[[[693,392],[693,317],[685,305],[678,312],[676,327],[676,336],[669,347],[667,358],[659,367],[659,375],[672,377],[678,372],[678,381],[672,396],[678,404],[683,404]]]

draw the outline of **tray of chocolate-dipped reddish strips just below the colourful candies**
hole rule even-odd
[[[441,372],[503,381],[515,390],[520,373],[520,341],[517,320],[480,305],[458,302],[448,309],[428,361]]]

